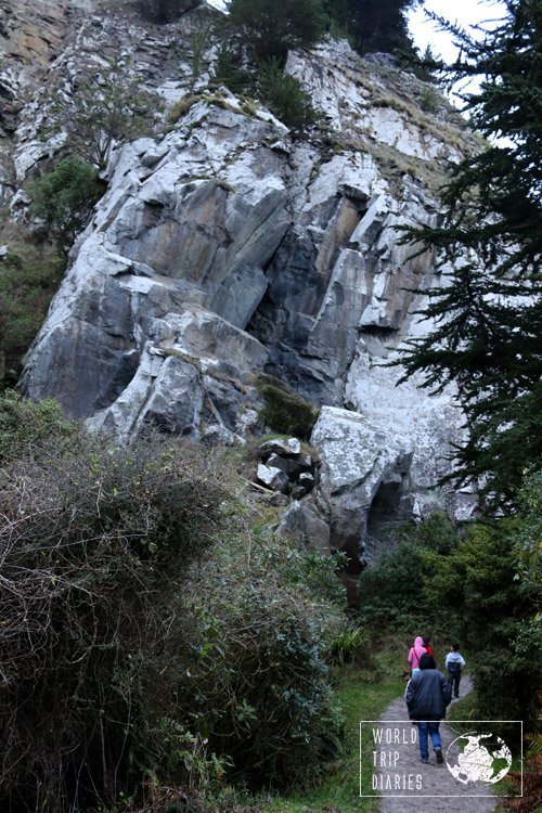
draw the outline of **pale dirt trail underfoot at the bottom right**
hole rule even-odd
[[[468,676],[464,676],[461,682],[462,696],[470,692],[470,681]],[[384,730],[393,730],[396,727],[403,738],[402,732],[405,732],[405,738],[408,743],[399,743],[393,745],[380,745],[376,746],[379,752],[384,752],[383,757],[377,756],[376,759],[386,759],[386,766],[380,769],[378,775],[382,777],[383,787],[380,789],[383,799],[380,802],[380,813],[420,813],[424,808],[434,811],[434,813],[490,813],[496,808],[496,797],[490,797],[490,789],[485,788],[473,788],[464,785],[454,778],[454,776],[448,770],[446,762],[441,765],[436,763],[435,751],[429,738],[429,764],[423,764],[420,760],[420,747],[417,743],[417,728],[412,724],[393,726],[392,723],[386,723],[389,720],[409,720],[406,713],[406,705],[403,698],[395,700],[380,718],[379,726]],[[392,736],[392,735],[391,735]],[[415,737],[415,743],[412,743],[412,738]],[[457,733],[452,731],[449,723],[442,722],[440,725],[440,737],[442,740],[442,753],[446,754],[451,743],[457,737]],[[459,748],[450,752],[449,758],[452,757],[456,750],[459,756]],[[390,756],[391,751],[391,756]],[[398,753],[398,757],[396,756]],[[452,757],[453,762],[455,758]],[[390,764],[391,763],[396,763]],[[408,786],[403,789],[386,789],[386,777],[389,777],[391,784],[398,782],[401,786],[408,784],[408,777],[411,778],[412,789],[409,790]],[[404,778],[406,777],[406,778]],[[418,789],[416,789],[416,785]],[[420,785],[422,789],[420,789]],[[391,795],[404,795],[402,798],[392,798]],[[488,797],[479,797],[476,795],[488,793]],[[446,797],[450,798],[435,798]],[[412,799],[405,797],[412,797]],[[431,796],[433,798],[427,798]],[[424,798],[426,800],[424,801]]]

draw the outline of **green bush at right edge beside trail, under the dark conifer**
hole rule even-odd
[[[517,517],[474,522],[453,556],[427,555],[434,575],[424,584],[425,597],[436,605],[446,596],[459,640],[470,654],[480,720],[537,723],[541,480],[540,473],[526,478]]]

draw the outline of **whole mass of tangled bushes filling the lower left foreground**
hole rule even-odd
[[[341,723],[333,559],[193,444],[120,449],[7,395],[0,450],[2,809],[314,780]]]

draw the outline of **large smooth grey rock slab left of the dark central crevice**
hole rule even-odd
[[[155,142],[120,152],[29,356],[23,387],[30,398],[53,396],[77,417],[101,410],[93,425],[122,436],[152,421],[197,437],[209,389],[201,375],[215,373],[223,379],[216,392],[222,420],[234,428],[230,404],[247,400],[243,380],[268,357],[243,328],[267,287],[261,267],[288,225],[283,159],[266,149],[247,156],[240,145],[273,132],[201,103],[163,139],[152,169],[145,157]],[[215,179],[193,179],[196,154]],[[175,353],[182,363],[160,361]]]

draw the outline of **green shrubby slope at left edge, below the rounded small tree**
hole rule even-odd
[[[0,258],[0,386],[2,379],[14,384],[18,377],[65,264],[47,247],[10,246],[8,256]]]

